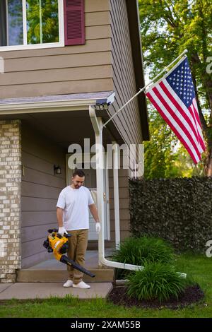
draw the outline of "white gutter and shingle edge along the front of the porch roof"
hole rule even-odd
[[[113,91],[1,99],[0,114],[81,111],[89,110],[90,105],[110,105],[113,101]]]

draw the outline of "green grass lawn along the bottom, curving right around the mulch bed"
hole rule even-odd
[[[170,309],[124,308],[107,302],[107,300],[78,300],[73,297],[49,300],[9,300],[0,302],[0,317],[49,317],[49,318],[145,318],[145,317],[212,317],[212,259],[191,254],[177,257],[177,270],[192,275],[201,285],[206,296],[200,304]]]

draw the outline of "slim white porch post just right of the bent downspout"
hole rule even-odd
[[[120,243],[120,218],[119,218],[119,158],[118,146],[112,142],[113,150],[113,188],[114,188],[114,225],[115,225],[115,247],[118,249]]]

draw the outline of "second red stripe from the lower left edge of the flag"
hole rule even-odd
[[[155,95],[157,95],[157,97],[160,100],[161,104],[163,105],[164,109],[167,111],[168,114],[170,114],[170,119],[172,118],[172,119],[174,119],[176,121],[176,123],[178,124],[178,127],[180,129],[182,129],[182,132],[184,132],[184,134],[187,136],[188,140],[192,144],[194,150],[196,151],[196,155],[198,155],[200,157],[199,143],[197,141],[196,141],[196,143],[194,143],[194,139],[193,139],[192,135],[189,133],[189,131],[186,128],[186,126],[184,126],[184,124],[182,123],[182,120],[179,119],[179,117],[177,116],[177,114],[175,112],[173,112],[173,110],[171,109],[170,105],[168,105],[168,103],[165,101],[165,99],[163,98],[163,96],[160,94],[159,87],[158,88],[156,88],[156,87],[153,88],[153,91],[154,91]],[[196,144],[198,146],[196,146]]]

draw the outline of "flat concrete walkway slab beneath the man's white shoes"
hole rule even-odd
[[[88,283],[89,284],[89,283]],[[78,299],[105,298],[112,290],[112,283],[90,283],[89,290],[63,287],[62,283],[4,283],[0,284],[0,300],[31,300],[72,295]]]

